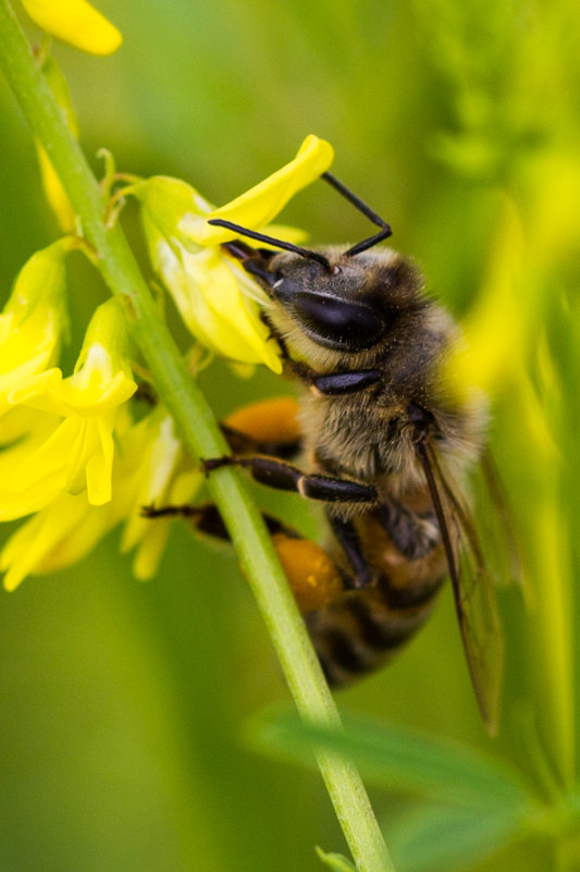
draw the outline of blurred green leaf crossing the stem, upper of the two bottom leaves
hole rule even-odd
[[[530,800],[517,772],[458,742],[442,741],[370,719],[346,719],[344,732],[305,725],[289,710],[269,710],[251,724],[262,751],[313,764],[312,748],[347,754],[374,784],[437,801],[523,811]]]

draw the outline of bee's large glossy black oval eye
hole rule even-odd
[[[383,335],[385,324],[370,306],[326,294],[299,291],[292,299],[292,311],[313,340],[328,348],[361,352]]]

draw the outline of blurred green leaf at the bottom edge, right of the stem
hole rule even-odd
[[[517,812],[435,803],[398,814],[384,827],[399,872],[467,869],[504,848],[519,831]]]

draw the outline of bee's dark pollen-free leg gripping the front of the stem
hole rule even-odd
[[[303,472],[297,466],[267,455],[227,455],[202,460],[202,469],[212,472],[222,466],[240,466],[248,469],[260,484],[281,491],[294,491],[308,500],[326,503],[370,503],[378,500],[372,484],[362,484],[346,478]]]

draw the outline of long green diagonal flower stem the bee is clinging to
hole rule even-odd
[[[64,185],[84,235],[98,254],[106,282],[126,303],[134,339],[185,444],[197,457],[223,454],[226,445],[211,410],[159,316],[121,228],[116,224],[108,229],[103,223],[103,202],[97,180],[64,123],[7,0],[0,0],[0,65],[34,135]],[[233,470],[218,470],[209,483],[300,715],[309,722],[340,727],[334,700],[260,513]],[[361,872],[394,872],[355,766],[326,751],[319,751],[317,759],[357,868]]]

